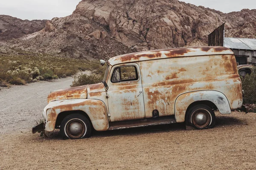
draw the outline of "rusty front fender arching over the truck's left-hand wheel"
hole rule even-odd
[[[64,111],[83,111],[85,112],[95,130],[108,130],[107,109],[101,100],[96,99],[69,99],[49,102],[44,109],[46,115],[46,131],[55,129],[58,114]]]

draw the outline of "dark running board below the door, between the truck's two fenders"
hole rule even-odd
[[[173,118],[173,116],[165,116],[165,117],[158,117],[158,118],[128,120],[128,121],[109,122],[109,123],[111,126],[108,128],[108,130],[117,130],[117,129],[132,128],[132,127],[171,124],[171,123],[176,123],[176,120]]]

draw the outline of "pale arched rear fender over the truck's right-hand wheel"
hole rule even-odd
[[[210,101],[216,105],[222,114],[231,113],[227,97],[219,91],[194,91],[182,94],[175,101],[176,122],[184,122],[186,110],[190,104],[198,101]]]

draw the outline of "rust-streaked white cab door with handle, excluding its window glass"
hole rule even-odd
[[[110,121],[124,121],[145,118],[143,90],[140,78],[140,68],[136,63],[116,65],[111,70],[120,66],[135,66],[138,79],[127,82],[111,82],[108,79],[108,109]]]

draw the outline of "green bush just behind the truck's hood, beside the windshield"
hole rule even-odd
[[[80,74],[79,76],[74,77],[74,81],[71,87],[96,84],[101,82],[102,79],[103,79],[102,75],[91,74],[90,76],[88,76],[86,74]]]

